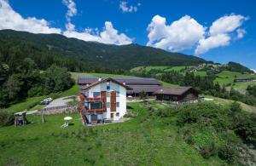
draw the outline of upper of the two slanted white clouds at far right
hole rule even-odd
[[[243,21],[247,19],[247,17],[240,14],[224,15],[212,23],[209,31],[210,35],[213,36],[220,33],[229,33],[231,31],[235,31],[236,28],[240,27]]]

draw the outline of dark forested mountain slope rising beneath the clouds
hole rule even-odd
[[[27,57],[43,70],[55,63],[66,66],[70,71],[128,70],[135,66],[187,66],[206,62],[192,55],[171,53],[134,43],[118,46],[84,42],[59,34],[0,31],[1,61],[11,66],[15,60]]]

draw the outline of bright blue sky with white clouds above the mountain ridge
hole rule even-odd
[[[138,43],[256,69],[254,0],[0,0],[0,30]]]

